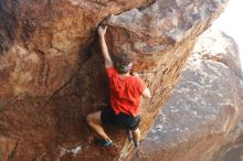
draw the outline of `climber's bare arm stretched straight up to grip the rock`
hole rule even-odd
[[[107,67],[113,66],[113,61],[109,56],[108,49],[107,49],[107,45],[106,45],[106,42],[105,42],[106,29],[107,29],[107,26],[105,26],[105,29],[99,26],[98,28],[98,35],[99,35],[99,43],[101,43],[101,47],[102,47],[102,55],[103,55],[103,58],[105,61],[105,67],[107,68]]]

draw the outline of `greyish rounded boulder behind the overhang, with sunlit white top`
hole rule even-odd
[[[236,159],[241,149],[234,147],[242,142],[243,132],[239,56],[237,45],[224,33],[203,33],[171,98],[142,142],[139,160],[241,160]]]

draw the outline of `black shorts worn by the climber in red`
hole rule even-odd
[[[140,115],[137,117],[124,112],[116,115],[112,107],[105,107],[102,110],[103,125],[117,125],[124,129],[136,130],[140,121]]]

